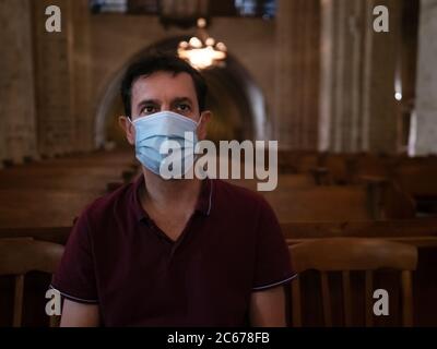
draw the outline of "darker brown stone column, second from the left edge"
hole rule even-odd
[[[38,0],[34,5],[35,72],[37,87],[38,148],[43,156],[73,149],[74,121],[71,103],[70,1]],[[46,8],[61,10],[61,33],[46,31]]]

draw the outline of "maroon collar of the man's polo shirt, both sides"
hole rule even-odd
[[[144,176],[141,173],[133,182],[132,186],[132,212],[137,218],[137,220],[150,220],[149,214],[144,210],[140,201],[140,189],[144,185]],[[211,214],[212,208],[212,195],[213,195],[213,181],[210,178],[206,178],[202,181],[202,188],[200,190],[200,195],[198,202],[196,204],[196,212],[200,213],[203,216],[209,216]]]

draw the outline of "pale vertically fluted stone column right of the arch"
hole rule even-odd
[[[322,1],[320,151],[362,147],[364,22],[363,1]]]

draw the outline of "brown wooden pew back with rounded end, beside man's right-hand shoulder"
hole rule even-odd
[[[257,191],[257,180],[227,180]],[[368,178],[362,185],[316,185],[310,174],[280,174],[277,188],[259,192],[280,221],[410,219],[414,202],[391,182]]]

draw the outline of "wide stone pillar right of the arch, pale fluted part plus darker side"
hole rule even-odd
[[[389,9],[389,33],[374,32],[376,5]],[[399,0],[322,1],[320,151],[397,151],[400,7]]]

